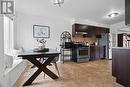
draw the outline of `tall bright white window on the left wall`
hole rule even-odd
[[[12,49],[14,44],[13,39],[13,20],[4,16],[4,64],[5,69],[9,69],[13,65]]]

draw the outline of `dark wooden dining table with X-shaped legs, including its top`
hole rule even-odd
[[[54,74],[51,70],[47,68],[55,57],[59,57],[60,52],[55,50],[49,50],[48,52],[34,52],[34,51],[25,51],[18,55],[18,57],[22,57],[30,61],[34,64],[38,69],[37,71],[23,84],[23,86],[31,85],[32,82],[39,76],[41,72],[44,72],[53,80],[58,79],[58,76]],[[37,58],[45,58],[45,62],[41,63]]]

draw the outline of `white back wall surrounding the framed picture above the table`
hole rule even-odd
[[[68,19],[48,16],[35,16],[31,14],[17,13],[16,15],[16,32],[15,43],[17,48],[23,47],[25,50],[37,46],[33,38],[33,25],[50,26],[50,38],[46,39],[46,46],[49,48],[59,48],[60,35],[63,31],[71,33],[71,23]]]

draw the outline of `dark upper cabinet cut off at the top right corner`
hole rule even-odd
[[[130,0],[125,0],[125,24],[130,25]]]

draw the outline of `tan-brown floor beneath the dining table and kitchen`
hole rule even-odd
[[[54,81],[47,75],[44,79],[44,73],[42,73],[32,85],[27,87],[123,87],[116,83],[116,79],[111,75],[111,62],[111,60],[97,60],[86,63],[59,63],[60,78],[58,80]],[[54,66],[48,67],[57,74]],[[22,87],[35,70],[28,67],[14,87]]]

